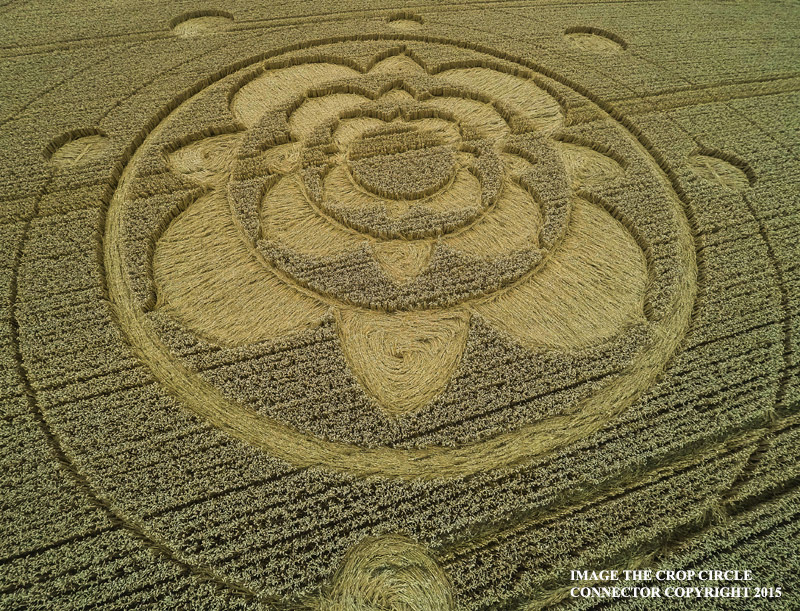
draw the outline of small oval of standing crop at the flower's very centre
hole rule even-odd
[[[447,185],[457,169],[442,134],[408,126],[364,134],[347,152],[353,180],[378,197],[415,200]]]

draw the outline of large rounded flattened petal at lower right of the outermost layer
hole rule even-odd
[[[644,322],[647,264],[639,245],[605,209],[573,203],[563,243],[520,284],[475,311],[531,348],[582,348]]]

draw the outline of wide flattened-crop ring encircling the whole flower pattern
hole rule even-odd
[[[433,42],[461,46],[452,41]],[[485,50],[480,52],[489,54]],[[253,63],[256,61],[258,60]],[[223,73],[218,80],[228,75],[229,73]],[[155,127],[148,138],[164,129],[168,123],[167,118]],[[653,340],[638,355],[626,374],[581,402],[571,413],[460,447],[362,448],[313,437],[261,416],[225,397],[219,389],[175,359],[153,327],[147,324],[144,310],[133,297],[130,270],[123,256],[125,236],[122,233],[122,214],[130,189],[131,168],[140,161],[144,146],[136,150],[127,164],[110,203],[106,220],[105,270],[117,321],[139,358],[188,409],[229,434],[297,466],[322,466],[361,476],[380,474],[403,479],[431,479],[463,476],[524,462],[532,456],[596,431],[631,405],[662,372],[678,349],[689,326],[697,278],[694,241],[689,222],[668,177],[645,147],[636,138],[630,139],[638,148],[640,158],[647,160],[646,163],[658,177],[661,189],[672,206],[674,219],[679,227],[678,239],[674,244],[680,267],[679,285],[673,291],[666,313],[655,325]]]

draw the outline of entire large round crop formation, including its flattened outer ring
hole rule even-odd
[[[694,299],[669,181],[526,66],[370,44],[256,62],[150,133],[106,228],[123,332],[186,408],[298,465],[465,474],[611,421]],[[225,129],[191,124],[220,99]]]

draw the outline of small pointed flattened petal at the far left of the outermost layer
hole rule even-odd
[[[173,172],[198,184],[219,187],[233,167],[243,132],[211,136],[187,144],[167,156]]]

